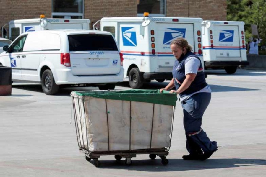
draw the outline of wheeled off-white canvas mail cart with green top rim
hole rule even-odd
[[[176,94],[159,90],[72,91],[80,150],[100,166],[101,155],[126,158],[156,155],[167,165],[171,146]]]

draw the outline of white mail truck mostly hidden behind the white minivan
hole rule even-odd
[[[13,41],[24,32],[60,29],[89,30],[90,20],[45,18],[44,15],[35,19],[11,20],[9,22],[9,39]]]

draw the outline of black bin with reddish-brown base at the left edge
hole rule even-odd
[[[11,95],[12,68],[0,66],[0,96]]]

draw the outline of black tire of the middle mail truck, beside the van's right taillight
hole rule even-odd
[[[132,68],[128,74],[129,86],[133,89],[139,89],[143,86],[140,70],[138,68]]]

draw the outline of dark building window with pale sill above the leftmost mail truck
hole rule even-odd
[[[52,18],[83,18],[83,0],[52,0]]]

